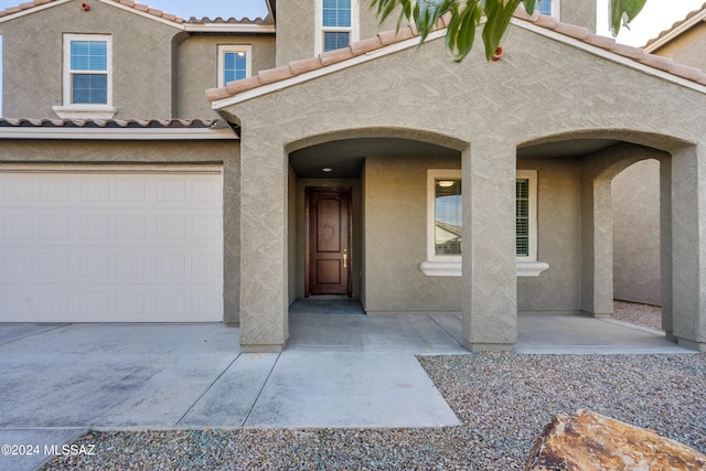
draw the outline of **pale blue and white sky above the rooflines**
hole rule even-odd
[[[0,0],[0,10],[15,7],[26,0]],[[360,0],[365,3],[368,0]],[[590,1],[590,0],[584,0]],[[608,0],[598,1],[598,33],[610,35],[608,32]],[[686,14],[700,8],[706,0],[648,0],[644,9],[630,25],[630,30],[621,29],[618,42],[635,46],[644,45],[660,32],[667,30]],[[191,17],[223,17],[223,18],[264,18],[267,14],[265,0],[140,0],[156,9],[168,11],[189,19]],[[0,38],[0,49],[2,40]],[[1,72],[1,68],[0,68]],[[0,75],[1,77],[1,75]],[[2,79],[0,78],[0,89]],[[0,110],[2,101],[0,97]],[[1,115],[0,115],[1,116]]]

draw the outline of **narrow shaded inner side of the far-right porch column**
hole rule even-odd
[[[660,272],[662,278],[662,329],[673,338],[672,315],[672,159],[660,159]]]

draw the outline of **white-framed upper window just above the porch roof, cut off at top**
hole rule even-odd
[[[319,33],[315,53],[334,51],[357,41],[357,4],[352,0],[318,0]]]

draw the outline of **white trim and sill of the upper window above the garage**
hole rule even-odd
[[[107,93],[105,104],[72,103],[71,43],[73,41],[106,42]],[[117,113],[113,106],[113,36],[110,34],[64,34],[63,44],[63,97],[61,106],[53,106],[54,113],[62,119],[111,119]]]

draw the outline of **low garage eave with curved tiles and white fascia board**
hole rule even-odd
[[[78,131],[81,129],[81,131]],[[77,132],[78,131],[78,132]],[[215,119],[10,119],[0,118],[0,139],[237,139]]]

